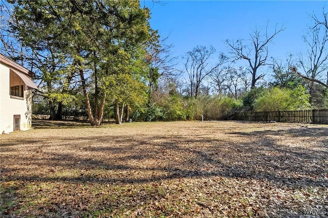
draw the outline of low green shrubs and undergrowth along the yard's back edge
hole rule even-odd
[[[173,86],[173,84],[172,84]],[[328,106],[327,93],[322,101],[322,108]],[[312,108],[310,94],[302,85],[295,89],[255,87],[233,98],[224,95],[209,95],[200,93],[197,98],[183,95],[174,90],[169,92],[154,92],[151,102],[144,102],[122,116],[123,122],[133,121],[175,121],[175,120],[227,120],[233,119],[235,112],[305,110]],[[34,114],[48,114],[46,102],[34,103]],[[64,115],[85,116],[87,111],[83,98],[66,105]],[[108,104],[104,109],[104,119],[115,118],[115,105]]]

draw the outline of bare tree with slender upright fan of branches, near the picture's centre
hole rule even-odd
[[[209,48],[206,46],[196,46],[192,51],[186,54],[185,69],[189,76],[190,96],[197,98],[197,94],[203,79],[210,76],[215,69],[222,65],[225,61],[225,56],[220,54],[219,62],[214,66],[209,66],[210,59],[215,53],[212,45]]]

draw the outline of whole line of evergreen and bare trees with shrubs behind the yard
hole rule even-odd
[[[270,58],[283,26],[226,40],[226,53],[173,45],[150,26],[140,1],[8,1],[1,49],[35,72],[33,113],[135,121],[230,119],[235,111],[328,108],[327,13],[312,15],[308,51]],[[300,36],[301,37],[301,36]],[[267,71],[267,73],[264,73]]]

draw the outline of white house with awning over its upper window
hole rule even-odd
[[[0,134],[32,126],[33,73],[0,54]]]

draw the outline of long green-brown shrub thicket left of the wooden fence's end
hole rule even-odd
[[[229,119],[241,107],[241,102],[220,96],[199,95],[197,99],[173,94],[148,107],[134,110],[131,117],[135,121],[177,121]]]

